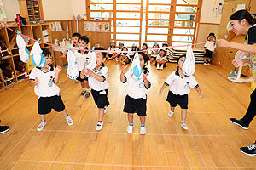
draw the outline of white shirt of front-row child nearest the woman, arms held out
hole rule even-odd
[[[197,88],[198,83],[193,76],[180,77],[178,71],[173,71],[172,74],[166,79],[166,86],[170,86],[170,91],[176,95],[189,94],[191,88]]]

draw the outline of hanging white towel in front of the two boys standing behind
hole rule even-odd
[[[79,70],[76,64],[77,57],[69,48],[67,52],[67,77],[72,80],[76,80],[76,78],[79,77]]]

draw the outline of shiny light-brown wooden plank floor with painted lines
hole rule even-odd
[[[64,117],[52,111],[44,131],[37,132],[40,122],[37,97],[26,80],[15,88],[1,91],[1,125],[11,127],[0,134],[0,169],[256,169],[256,156],[243,155],[239,148],[253,144],[256,121],[248,130],[230,122],[247,110],[250,84],[235,84],[230,74],[215,65],[196,65],[195,78],[205,98],[194,89],[189,94],[189,114],[185,131],[179,126],[180,108],[169,118],[166,103],[168,89],[159,96],[163,82],[176,64],[163,71],[149,68],[153,87],[148,94],[147,134],[139,134],[135,116],[133,134],[126,133],[128,121],[122,111],[125,87],[119,81],[120,65],[108,61],[110,106],[104,116],[102,131],[96,132],[97,109],[92,97],[80,96],[79,82],[61,71],[61,97],[74,124],[67,126]]]

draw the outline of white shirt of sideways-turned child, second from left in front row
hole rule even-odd
[[[104,77],[104,81],[100,82],[98,80],[96,80],[95,77],[89,77],[88,78],[88,82],[89,82],[89,86],[90,88],[96,90],[96,91],[102,91],[102,90],[106,90],[109,88],[109,84],[108,84],[108,67],[102,65],[101,69],[98,71],[92,70],[96,75],[102,76]]]

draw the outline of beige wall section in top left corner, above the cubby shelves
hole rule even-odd
[[[19,0],[2,0],[7,21],[15,21],[16,14],[20,14]]]

